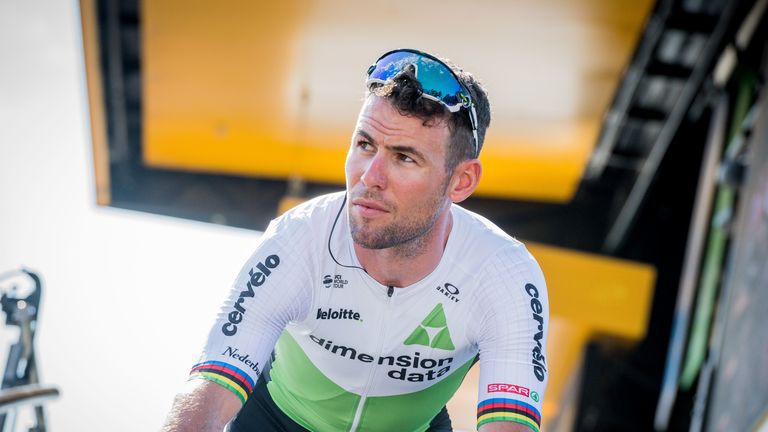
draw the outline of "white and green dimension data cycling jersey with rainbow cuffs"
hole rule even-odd
[[[392,288],[357,260],[343,193],[275,219],[235,280],[192,377],[244,403],[268,390],[313,431],[422,431],[480,355],[478,427],[538,431],[549,303],[522,243],[458,205],[438,266]]]

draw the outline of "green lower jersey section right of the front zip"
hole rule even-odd
[[[426,430],[429,422],[456,393],[473,360],[464,363],[442,381],[422,391],[398,396],[368,397],[358,430]],[[393,417],[396,417],[396,420]],[[389,429],[382,429],[382,419],[395,421],[396,424],[390,423]]]

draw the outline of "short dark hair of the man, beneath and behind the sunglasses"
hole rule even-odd
[[[491,106],[488,94],[483,85],[471,73],[466,72],[448,60],[440,59],[459,78],[461,84],[469,90],[477,112],[477,153],[483,148],[485,132],[491,123]],[[440,121],[448,122],[451,140],[448,143],[448,153],[445,169],[452,172],[464,160],[471,159],[474,152],[474,137],[472,124],[465,108],[452,113],[442,104],[423,98],[422,87],[414,74],[414,68],[406,68],[386,83],[370,83],[369,94],[386,98],[402,115],[412,116],[424,121],[425,126],[434,125]]]

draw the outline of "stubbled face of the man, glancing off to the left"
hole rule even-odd
[[[369,96],[347,154],[349,219],[355,242],[384,249],[422,238],[444,214],[448,125],[429,126]]]

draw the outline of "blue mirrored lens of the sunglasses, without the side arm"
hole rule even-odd
[[[453,73],[442,63],[418,53],[396,51],[379,59],[369,74],[369,79],[386,81],[395,77],[407,65],[416,67],[416,78],[421,83],[422,90],[449,108],[464,103],[464,89],[456,80]],[[461,96],[464,96],[462,98]]]

